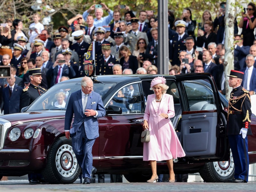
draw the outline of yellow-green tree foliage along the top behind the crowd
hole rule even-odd
[[[38,4],[38,2],[42,2]],[[53,28],[66,25],[67,20],[76,15],[77,13],[83,13],[92,4],[100,3],[96,0],[2,0],[0,3],[0,22],[4,22],[6,19],[20,19],[24,23],[24,28],[28,28],[32,21],[32,13],[35,12],[31,6],[39,6],[41,9],[38,12],[41,18],[45,16],[52,16]],[[128,5],[132,11],[138,13],[140,10],[153,10],[157,15],[157,2],[158,0],[105,0],[104,1],[111,10],[115,10],[117,5]],[[192,19],[201,21],[202,13],[205,9],[208,9],[212,13],[212,18],[215,18],[219,9],[220,0],[168,0],[168,9],[171,10],[175,17],[180,17],[184,8],[189,7],[192,11]],[[241,1],[237,2],[240,4]],[[53,8],[54,12],[49,12],[49,8]],[[124,13],[124,10],[121,10]]]

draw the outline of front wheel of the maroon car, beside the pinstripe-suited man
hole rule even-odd
[[[76,181],[80,172],[71,139],[60,137],[47,154],[46,166],[42,172],[44,180],[49,183],[69,184]]]

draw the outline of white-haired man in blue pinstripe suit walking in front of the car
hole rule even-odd
[[[90,184],[96,169],[92,166],[92,146],[99,137],[98,117],[106,112],[100,94],[93,92],[90,77],[81,81],[81,90],[71,94],[65,115],[65,136],[72,138],[72,148],[82,168],[83,184]],[[75,116],[72,128],[70,125]],[[94,171],[93,171],[94,168]]]

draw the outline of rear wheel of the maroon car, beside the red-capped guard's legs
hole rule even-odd
[[[199,171],[205,182],[227,182],[234,178],[235,164],[230,150],[228,161],[209,162]]]

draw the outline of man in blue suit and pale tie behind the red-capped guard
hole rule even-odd
[[[244,73],[244,78],[242,81],[242,87],[249,91],[250,95],[256,92],[256,68],[253,67],[254,57],[252,54],[248,54],[245,59],[246,68],[240,71]]]

